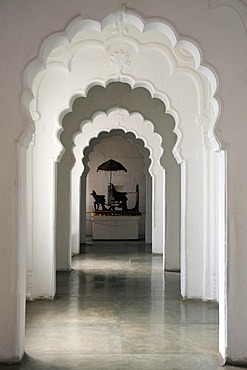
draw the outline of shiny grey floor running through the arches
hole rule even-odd
[[[143,242],[89,242],[57,274],[54,301],[27,302],[26,356],[0,368],[221,369],[217,304],[179,291]]]

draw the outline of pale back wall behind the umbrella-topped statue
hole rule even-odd
[[[136,185],[139,185],[140,198],[139,210],[142,213],[141,222],[139,224],[139,237],[145,236],[145,213],[146,213],[146,178],[144,175],[144,158],[138,147],[129,139],[122,136],[113,136],[109,139],[105,138],[99,144],[94,146],[93,152],[89,156],[90,171],[87,176],[87,235],[92,236],[92,223],[90,221],[90,213],[93,212],[93,197],[90,195],[92,190],[97,194],[105,194],[107,200],[107,186],[110,181],[109,173],[98,171],[100,164],[108,159],[114,159],[124,165],[127,172],[113,172],[112,183],[115,186],[120,186],[121,190],[126,192],[135,192]],[[135,206],[135,194],[128,194],[128,208]]]

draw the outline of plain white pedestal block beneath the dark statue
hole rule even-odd
[[[138,239],[140,216],[91,216],[92,237],[96,239]]]

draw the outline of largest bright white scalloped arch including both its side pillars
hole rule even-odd
[[[36,123],[29,160],[34,179],[30,189],[35,204],[32,208],[35,247],[31,249],[33,260],[39,261],[39,266],[34,267],[37,280],[33,279],[37,296],[55,294],[54,199],[56,162],[63,154],[57,140],[62,118],[71,109],[72,100],[86,96],[92,86],[120,81],[147,89],[152,97],[164,102],[167,112],[175,119],[178,140],[174,155],[182,163],[182,295],[204,299],[217,297],[217,246],[224,241],[224,217],[222,208],[219,210],[216,204],[223,207],[224,204],[221,204],[223,200],[217,203],[215,199],[218,200],[224,188],[224,158],[214,136],[218,114],[214,99],[215,77],[200,65],[198,49],[192,43],[178,41],[171,28],[162,23],[150,23],[145,28],[140,18],[120,13],[104,20],[102,29],[96,33],[95,22],[83,20],[72,22],[68,30],[71,42],[68,43],[66,35],[57,39],[56,47],[46,41],[46,70],[38,72],[36,69],[36,78],[31,83],[35,98],[28,106]],[[90,32],[93,36],[88,43]],[[65,68],[61,68],[61,60]],[[92,63],[92,60],[101,63]],[[35,68],[30,65],[27,75]],[[47,107],[47,99],[53,102],[52,108]],[[45,154],[44,145],[48,145]],[[39,168],[32,166],[34,163],[40,163]],[[39,179],[44,176],[47,182],[42,187]],[[45,240],[40,238],[41,234],[45,235]],[[42,255],[40,240],[47,246],[45,255]],[[48,268],[41,283],[44,264]]]

